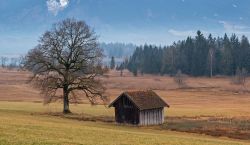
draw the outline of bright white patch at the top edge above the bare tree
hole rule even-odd
[[[55,16],[69,4],[69,0],[47,0],[48,11]]]

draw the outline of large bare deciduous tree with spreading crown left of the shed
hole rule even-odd
[[[83,92],[92,104],[105,101],[101,75],[102,50],[97,36],[84,21],[66,19],[53,25],[28,52],[24,68],[33,72],[31,82],[41,89],[44,103],[63,100],[63,113],[70,113],[70,99]],[[63,95],[60,95],[60,90]]]

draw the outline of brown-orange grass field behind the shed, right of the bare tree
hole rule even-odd
[[[169,104],[170,116],[250,116],[250,78],[245,88],[233,85],[229,77],[188,78],[188,88],[178,89],[173,78],[168,76],[144,75],[125,77],[111,72],[104,82],[110,96],[123,90],[153,89]]]

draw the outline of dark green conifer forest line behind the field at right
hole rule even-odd
[[[190,76],[235,75],[237,69],[250,72],[250,44],[246,36],[232,34],[214,38],[201,31],[170,46],[137,47],[120,68],[137,74],[170,74],[178,70]]]

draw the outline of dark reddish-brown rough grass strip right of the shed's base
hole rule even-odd
[[[169,117],[160,129],[249,140],[250,118]]]

